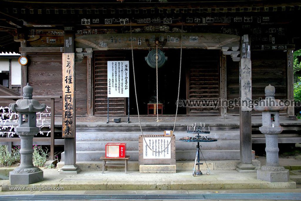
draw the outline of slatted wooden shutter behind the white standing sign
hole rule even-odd
[[[107,115],[107,61],[124,61],[124,51],[94,52],[94,115]],[[125,115],[126,98],[109,99],[110,116]]]

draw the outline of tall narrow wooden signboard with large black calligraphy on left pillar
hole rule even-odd
[[[63,55],[63,137],[75,137],[75,70],[74,53]]]

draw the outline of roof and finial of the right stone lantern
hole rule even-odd
[[[265,99],[259,101],[258,105],[254,105],[255,111],[279,111],[285,110],[283,102],[275,99],[275,87],[269,84],[265,87]]]

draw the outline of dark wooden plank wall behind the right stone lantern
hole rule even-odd
[[[252,99],[265,98],[265,86],[275,86],[276,99],[287,98],[286,52],[253,51],[252,61]],[[239,62],[227,59],[227,99],[239,97]],[[239,114],[238,108],[227,110],[228,114]],[[286,113],[286,111],[281,111]],[[252,110],[252,114],[260,113]]]

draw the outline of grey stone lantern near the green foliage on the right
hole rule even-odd
[[[279,111],[286,107],[275,99],[275,87],[270,84],[265,87],[265,99],[254,106],[254,110],[262,111],[261,133],[265,134],[266,164],[257,170],[257,179],[269,182],[287,182],[289,170],[279,166],[278,134],[283,127],[279,124]]]

